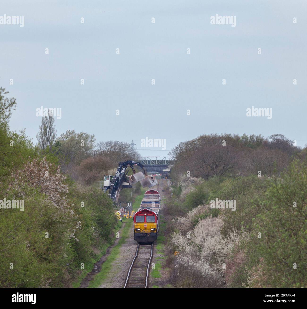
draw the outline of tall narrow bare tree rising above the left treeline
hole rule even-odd
[[[52,112],[49,111],[48,116],[42,118],[40,130],[36,135],[38,145],[43,150],[45,150],[47,146],[51,147],[57,136],[57,130],[53,124],[54,118],[52,116]]]

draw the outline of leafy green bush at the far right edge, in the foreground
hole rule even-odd
[[[294,203],[297,203],[294,207]],[[294,161],[259,204],[255,232],[260,232],[262,286],[307,286],[307,166]],[[294,264],[296,263],[296,264]],[[296,268],[295,268],[296,265]]]

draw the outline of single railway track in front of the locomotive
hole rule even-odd
[[[147,288],[153,244],[138,245],[124,288]]]

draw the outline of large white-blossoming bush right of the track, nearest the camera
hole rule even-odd
[[[206,205],[194,208],[187,215],[187,218],[178,218],[177,226],[183,224],[182,230],[187,226],[187,220],[193,218],[199,211],[203,211]],[[246,238],[245,232],[233,230],[225,238],[221,233],[223,226],[222,217],[199,220],[198,224],[189,232],[182,234],[180,231],[172,234],[171,243],[179,255],[176,263],[192,267],[203,276],[225,277],[225,264],[229,253],[236,243]]]

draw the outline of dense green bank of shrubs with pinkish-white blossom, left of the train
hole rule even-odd
[[[91,263],[94,248],[111,239],[117,223],[112,201],[95,188],[66,184],[59,168],[45,158],[28,161],[9,179],[1,196],[24,200],[24,211],[0,210],[0,230],[5,231],[0,235],[0,286],[70,286],[80,263]]]

